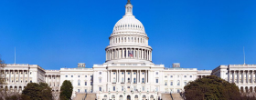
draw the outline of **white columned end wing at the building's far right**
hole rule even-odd
[[[219,65],[212,71],[222,79],[235,83],[240,91],[254,93],[256,91],[256,65]]]

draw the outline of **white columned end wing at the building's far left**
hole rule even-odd
[[[39,65],[7,64],[1,73],[5,74],[6,85],[0,85],[12,92],[21,92],[26,85],[31,83],[45,82],[45,70]]]

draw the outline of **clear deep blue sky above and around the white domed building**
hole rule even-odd
[[[0,55],[45,69],[105,62],[126,0],[1,0]],[[153,62],[214,69],[256,64],[255,0],[131,0],[153,47]]]

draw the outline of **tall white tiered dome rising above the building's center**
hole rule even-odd
[[[125,15],[114,25],[110,45],[105,48],[106,63],[152,63],[148,39],[144,25],[133,15],[133,5],[128,0]]]

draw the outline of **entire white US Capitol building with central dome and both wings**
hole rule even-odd
[[[217,75],[240,89],[249,88],[254,92],[256,65],[219,65],[214,70],[181,68],[174,63],[172,68],[155,65],[152,62],[152,47],[144,25],[133,15],[133,5],[128,0],[125,15],[113,27],[109,37],[110,45],[105,48],[106,62],[86,68],[79,63],[77,68],[45,70],[39,65],[7,64],[6,85],[11,91],[21,92],[29,82],[45,82],[53,92],[60,91],[63,81],[73,85],[72,98],[78,94],[91,93],[97,99],[145,100],[158,99],[165,93],[184,91],[188,82],[206,75]]]

